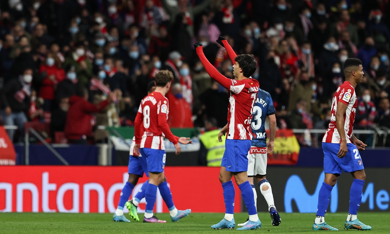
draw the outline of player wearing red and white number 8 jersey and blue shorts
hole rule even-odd
[[[170,71],[160,71],[154,77],[156,80],[156,90],[144,97],[138,109],[135,118],[134,133],[135,146],[134,153],[141,154],[146,159],[145,171],[149,172],[149,183],[145,189],[146,209],[144,215],[145,223],[166,223],[165,220],[159,220],[153,215],[154,203],[156,202],[157,188],[164,184],[164,167],[166,160],[164,138],[167,137],[176,148],[176,154],[181,152],[181,144],[191,144],[190,138],[176,137],[170,131],[167,119],[169,113],[168,99],[165,97],[170,89],[173,74]],[[165,183],[166,184],[166,183]],[[168,188],[168,186],[166,186]],[[169,189],[169,188],[168,188]],[[170,210],[171,217],[182,218],[191,213],[190,209],[178,211],[173,205],[172,194],[170,190],[161,191],[167,196],[170,195],[170,201],[165,202]],[[170,206],[171,205],[171,206]],[[173,221],[173,220],[172,220]]]

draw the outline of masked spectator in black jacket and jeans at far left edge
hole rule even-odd
[[[24,123],[27,122],[30,107],[31,82],[33,71],[27,68],[18,78],[7,82],[1,91],[1,105],[5,125],[16,125],[20,132],[18,142],[23,141]],[[8,130],[11,140],[15,130]]]

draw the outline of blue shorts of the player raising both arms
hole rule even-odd
[[[226,167],[228,172],[246,172],[251,143],[251,140],[226,139],[221,167]]]

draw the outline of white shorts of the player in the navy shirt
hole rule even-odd
[[[267,147],[250,147],[248,154],[248,176],[266,175]]]

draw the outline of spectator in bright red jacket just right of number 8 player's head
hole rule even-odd
[[[170,128],[193,128],[191,106],[183,98],[183,87],[180,83],[172,85],[171,92],[167,93],[170,103],[168,125]]]

